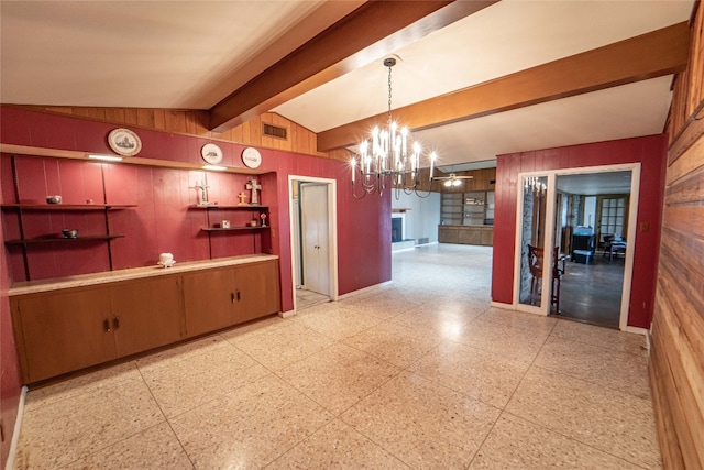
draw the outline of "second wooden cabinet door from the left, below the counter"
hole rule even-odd
[[[178,276],[111,287],[110,300],[118,356],[146,351],[185,336]]]

